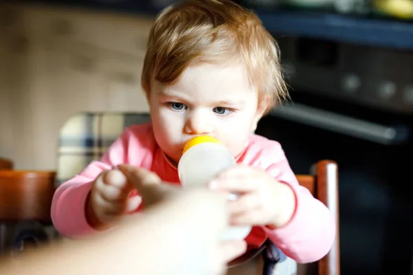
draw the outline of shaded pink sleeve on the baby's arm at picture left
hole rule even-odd
[[[51,216],[56,230],[74,238],[96,232],[87,222],[85,204],[92,182],[103,170],[125,163],[130,131],[127,129],[112,144],[100,161],[91,162],[80,174],[63,183],[54,192]]]

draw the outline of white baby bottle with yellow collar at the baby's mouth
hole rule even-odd
[[[218,173],[236,164],[229,150],[218,140],[208,135],[193,137],[184,146],[178,163],[178,175],[184,188],[207,186]],[[234,199],[231,195],[229,199]],[[244,239],[251,226],[231,226],[222,239]]]

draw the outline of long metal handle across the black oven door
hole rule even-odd
[[[410,135],[405,126],[377,124],[298,103],[279,106],[271,115],[379,144],[403,144]]]

